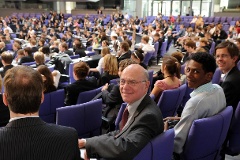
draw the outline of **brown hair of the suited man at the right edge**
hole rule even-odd
[[[239,57],[239,49],[238,49],[237,45],[234,44],[233,42],[230,42],[230,41],[225,41],[225,42],[222,42],[219,45],[217,45],[217,47],[215,48],[215,54],[214,55],[216,55],[216,51],[218,49],[223,49],[223,48],[227,49],[231,58],[233,58],[235,56]],[[236,61],[236,63],[237,62],[238,62],[238,60]]]

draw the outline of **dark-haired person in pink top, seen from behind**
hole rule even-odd
[[[164,79],[156,81],[151,92],[156,102],[158,102],[164,90],[178,88],[181,85],[180,69],[181,65],[176,58],[172,56],[163,57],[161,71],[164,75]]]

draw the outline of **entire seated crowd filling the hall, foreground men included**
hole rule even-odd
[[[86,159],[133,159],[151,139],[168,129],[167,121],[177,119],[173,158],[178,160],[194,120],[213,116],[227,106],[232,106],[235,112],[240,101],[240,71],[237,67],[240,21],[227,33],[221,24],[205,25],[201,16],[193,17],[189,26],[194,23],[194,27],[187,28],[180,23],[180,16],[175,21],[173,16],[166,20],[158,14],[149,24],[146,18],[133,18],[127,13],[113,13],[107,24],[103,22],[105,18],[106,15],[99,15],[91,21],[86,14],[84,18],[65,20],[56,12],[43,13],[39,19],[0,18],[3,24],[0,73],[4,84],[0,96],[0,125],[6,126],[0,129],[0,144],[3,145],[0,153],[6,153],[0,154],[1,159],[14,159],[18,154],[25,154],[28,159],[44,159],[47,152],[34,150],[47,144],[51,151],[57,150],[53,155],[58,158],[53,159],[80,159],[78,148],[83,147],[86,148]],[[179,29],[177,24],[180,24]],[[131,36],[125,31],[131,31]],[[142,36],[139,44],[135,44],[137,33]],[[14,39],[13,34],[17,38]],[[173,42],[178,52],[162,55],[161,46],[165,42],[167,48]],[[154,47],[156,43],[158,48]],[[213,43],[216,47],[212,48]],[[97,55],[98,49],[100,55]],[[92,57],[98,58],[94,66],[85,61],[91,59],[87,55],[92,52],[95,53]],[[144,58],[153,52],[149,63],[145,64]],[[74,58],[76,55],[77,59]],[[148,64],[154,59],[157,65],[162,59],[161,67],[149,77]],[[184,72],[181,72],[181,65]],[[219,84],[212,84],[217,67],[222,77]],[[71,76],[74,80],[69,83],[65,77],[70,79]],[[193,92],[182,106],[183,110],[176,117],[163,117],[157,106],[162,93],[179,88],[185,82]],[[102,87],[101,93],[93,99],[101,98],[104,104],[102,115],[108,119],[103,125],[106,134],[77,139],[74,129],[47,124],[38,118],[44,94],[63,88],[67,107],[77,104],[79,93],[98,87]],[[119,130],[115,130],[115,119],[124,102],[127,107]],[[18,127],[19,132],[15,133],[11,127]],[[32,144],[25,150],[21,146],[24,142],[19,140],[22,137],[14,138],[9,144],[9,137],[14,133],[24,139],[31,133],[36,137],[33,136]],[[31,148],[32,145],[35,147]],[[12,147],[16,155],[8,154]],[[224,147],[225,144],[222,158]],[[27,153],[28,149],[33,152]],[[67,156],[61,154],[64,149]]]

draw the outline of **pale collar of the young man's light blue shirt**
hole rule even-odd
[[[216,88],[220,88],[219,85],[217,84],[212,84],[212,82],[208,82],[204,85],[201,85],[199,86],[198,88],[194,89],[192,93],[190,93],[190,97],[194,97],[200,93],[203,93],[203,92],[210,92],[212,91],[213,89],[216,89]]]

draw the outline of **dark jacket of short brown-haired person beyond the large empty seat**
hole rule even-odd
[[[78,95],[81,92],[89,91],[97,88],[96,79],[81,79],[69,84],[65,87],[65,105],[75,105],[77,103]]]

